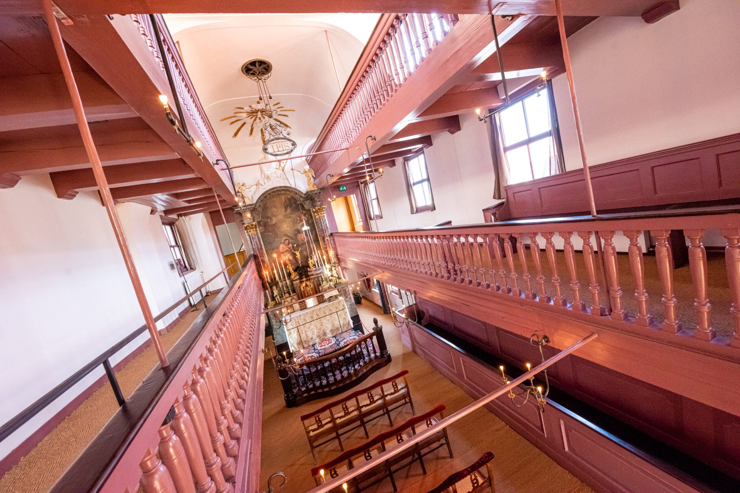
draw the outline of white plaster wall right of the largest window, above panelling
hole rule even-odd
[[[740,2],[681,0],[655,24],[600,17],[568,38],[589,165],[740,132]],[[582,167],[564,75],[565,168]]]

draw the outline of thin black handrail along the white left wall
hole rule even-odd
[[[226,269],[231,268],[232,265],[234,264],[229,265],[229,267],[227,267]],[[246,262],[245,262],[245,265],[246,265]],[[223,269],[223,271],[226,271],[226,269]],[[183,296],[181,299],[178,299],[177,302],[173,303],[172,305],[169,305],[169,307],[167,307],[164,311],[162,311],[158,316],[154,317],[154,321],[159,322],[161,319],[164,319],[164,317],[169,315],[169,313],[171,313],[172,310],[175,310],[175,308],[177,308],[182,303],[184,303],[186,299],[189,299],[190,296],[193,296],[195,293],[198,293],[198,291],[200,291],[202,288],[204,288],[206,285],[212,282],[213,279],[216,279],[218,276],[221,276],[221,273],[223,273],[223,271],[217,273],[215,276],[213,276],[211,279],[208,279],[206,282],[203,282],[203,284],[198,286],[198,288],[195,288],[194,290],[186,294],[186,296]],[[104,361],[106,361],[108,358],[113,356],[115,353],[118,353],[118,351],[126,347],[127,344],[129,344],[129,342],[133,341],[138,336],[141,336],[141,334],[143,334],[146,331],[147,331],[146,324],[134,330],[128,336],[124,337],[124,339],[121,339],[121,341],[118,341],[118,343],[111,346],[110,349],[106,350],[104,353],[102,353],[100,356],[90,361],[90,363],[86,364],[80,370],[73,373],[73,375],[71,375],[70,378],[67,378],[67,380],[61,382],[61,384],[58,384],[52,390],[42,395],[41,398],[38,398],[36,402],[31,404],[26,409],[23,409],[23,411],[19,412],[18,415],[11,418],[10,421],[7,421],[6,424],[0,426],[0,441],[3,441],[5,438],[13,434],[13,432],[15,432],[16,429],[19,429],[28,420],[30,420],[31,418],[36,416],[39,412],[41,412],[41,409],[44,409],[49,404],[51,404],[53,401],[55,401],[60,395],[64,394],[64,392],[67,392],[67,390],[70,390],[78,381],[81,381],[90,372],[92,372],[92,370],[95,370],[95,368],[103,364]]]

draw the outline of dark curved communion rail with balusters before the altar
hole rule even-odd
[[[321,358],[277,366],[286,407],[340,394],[391,362],[383,327]],[[300,367],[298,366],[300,365]]]

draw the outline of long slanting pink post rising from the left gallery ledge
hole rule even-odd
[[[149,302],[147,302],[147,296],[144,294],[144,288],[141,285],[141,279],[139,279],[138,272],[136,271],[136,265],[129,251],[129,245],[126,242],[124,236],[124,228],[121,226],[121,220],[118,218],[118,212],[115,210],[115,204],[113,203],[113,197],[110,194],[110,188],[108,187],[108,180],[105,177],[103,171],[103,165],[100,162],[98,156],[98,150],[95,149],[95,143],[92,140],[92,134],[90,133],[90,127],[87,126],[87,118],[85,118],[84,108],[82,106],[82,100],[80,93],[77,89],[77,83],[75,82],[75,76],[72,73],[72,67],[70,67],[70,60],[67,58],[67,50],[64,48],[64,42],[61,40],[61,33],[59,32],[59,26],[56,23],[56,18],[53,13],[53,4],[51,0],[43,0],[44,5],[44,17],[49,26],[51,38],[54,44],[54,50],[56,56],[61,65],[61,71],[64,73],[64,81],[67,83],[67,89],[70,92],[72,98],[72,106],[75,112],[75,120],[77,120],[77,126],[82,136],[82,142],[85,146],[85,152],[87,157],[90,159],[90,166],[92,167],[92,174],[95,175],[95,183],[98,185],[98,191],[100,192],[101,200],[108,213],[108,219],[113,227],[113,234],[115,239],[118,241],[118,248],[121,249],[121,255],[124,257],[124,263],[126,269],[131,278],[131,284],[133,285],[134,292],[136,293],[136,299],[141,307],[141,313],[144,315],[144,322],[147,324],[149,330],[149,336],[152,337],[152,344],[154,350],[159,358],[159,364],[161,367],[169,366],[167,356],[164,350],[164,345],[159,338],[159,331],[157,330],[157,324],[154,322],[154,316],[152,316],[152,310],[149,308]]]

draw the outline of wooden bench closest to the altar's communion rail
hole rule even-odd
[[[365,438],[369,438],[366,424],[386,415],[388,423],[393,426],[391,411],[406,404],[411,406],[413,414],[414,402],[411,401],[411,390],[406,381],[407,373],[408,370],[403,370],[396,375],[383,378],[369,387],[356,390],[344,398],[329,402],[314,412],[301,416],[300,421],[306,431],[314,462],[317,446],[337,440],[340,449],[344,450],[342,435],[362,427]]]

